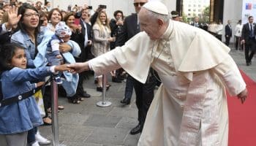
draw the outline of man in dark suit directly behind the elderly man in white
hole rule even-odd
[[[124,27],[121,31],[121,34],[116,40],[116,46],[124,45],[127,40],[135,36],[140,32],[140,23],[138,20],[138,12],[140,8],[148,2],[148,0],[134,0],[134,6],[136,14],[132,14],[127,16],[124,20]],[[144,122],[146,120],[146,114],[148,112],[148,108],[151,104],[151,101],[154,98],[154,88],[156,86],[156,79],[154,74],[151,72],[148,74],[148,80],[145,84],[135,80],[131,76],[127,77],[127,87],[124,95],[124,99],[121,101],[123,104],[129,104],[130,99],[132,97],[132,85],[135,88],[136,93],[136,105],[138,107],[138,126],[132,128],[130,134],[138,134],[142,131]]]

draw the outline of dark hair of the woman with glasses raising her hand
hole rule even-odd
[[[18,15],[22,15],[21,18],[20,18],[20,21],[18,23],[18,28],[20,28],[20,31],[23,31],[23,33],[26,33],[26,26],[23,24],[23,18],[24,18],[24,13],[26,12],[26,9],[32,9],[34,10],[35,12],[38,13],[38,10],[31,6],[30,4],[23,4],[19,7],[18,9]],[[37,38],[37,34],[39,33],[40,31],[40,24],[38,24],[37,28],[35,28],[35,31],[34,31],[34,37]]]

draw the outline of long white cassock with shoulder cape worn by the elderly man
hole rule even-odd
[[[138,145],[227,145],[225,87],[231,95],[246,88],[229,50],[206,31],[170,20],[161,39],[141,32],[89,65],[97,74],[122,67],[140,82],[150,66],[159,74]]]

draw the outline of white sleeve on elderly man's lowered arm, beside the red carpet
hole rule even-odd
[[[225,58],[225,60],[222,61],[221,64],[214,67],[213,70],[225,83],[225,87],[231,96],[238,95],[238,93],[241,93],[241,91],[244,91],[246,88],[244,79],[231,56]]]

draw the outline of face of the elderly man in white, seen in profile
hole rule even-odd
[[[139,19],[140,19],[140,30],[145,31],[148,34],[148,37],[152,40],[159,39],[162,36],[162,32],[159,31],[159,22],[155,18],[151,18],[148,15],[147,10],[145,8],[140,9],[139,12]]]

